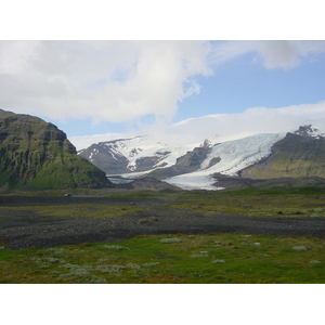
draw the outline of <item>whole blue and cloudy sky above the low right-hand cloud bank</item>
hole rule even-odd
[[[325,100],[325,41],[0,41],[0,107],[68,136]]]

